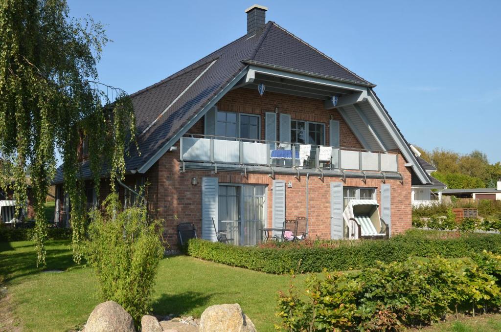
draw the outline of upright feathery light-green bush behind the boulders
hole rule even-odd
[[[93,210],[87,261],[94,267],[104,300],[124,307],[136,324],[151,310],[155,275],[164,247],[161,221],[149,221],[144,205],[121,211],[117,194]]]

